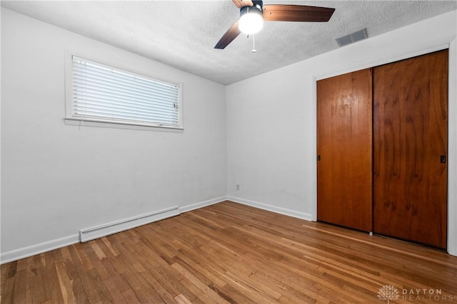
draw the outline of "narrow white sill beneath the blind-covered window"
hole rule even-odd
[[[114,129],[161,131],[182,133],[182,127],[169,127],[166,125],[146,125],[135,122],[115,122],[110,120],[81,119],[77,117],[65,117],[65,125],[76,125],[78,127],[108,127]]]

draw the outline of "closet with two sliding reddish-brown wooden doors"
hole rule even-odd
[[[448,51],[317,83],[318,221],[446,248]]]

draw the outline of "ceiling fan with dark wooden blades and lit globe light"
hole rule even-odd
[[[240,18],[233,23],[214,48],[223,49],[240,33],[261,30],[263,21],[327,22],[335,9],[319,6],[268,4],[256,0],[232,0],[240,9]]]

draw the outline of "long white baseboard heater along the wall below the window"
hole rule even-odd
[[[84,243],[86,241],[99,239],[103,236],[116,234],[127,229],[132,229],[144,224],[152,223],[153,221],[160,221],[161,219],[176,216],[180,213],[181,212],[179,211],[179,207],[174,206],[168,209],[151,212],[149,214],[134,216],[129,219],[123,219],[121,221],[114,221],[109,224],[104,224],[89,229],[83,229],[79,231],[79,240],[81,241],[81,243]]]

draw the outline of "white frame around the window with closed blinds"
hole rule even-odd
[[[65,117],[64,122],[66,125],[78,125],[80,127],[109,127],[109,128],[121,128],[129,130],[158,130],[168,132],[182,132],[184,130],[183,123],[183,98],[182,98],[182,83],[169,80],[159,80],[149,73],[145,73],[144,70],[136,70],[135,68],[126,68],[119,65],[119,63],[110,63],[106,60],[99,60],[92,56],[80,55],[79,53],[66,50],[65,56]],[[99,65],[102,68],[110,68],[118,70],[121,73],[127,73],[129,75],[135,75],[141,78],[146,78],[157,83],[164,83],[166,85],[176,85],[178,87],[178,122],[179,124],[174,125],[162,125],[154,122],[142,122],[133,120],[121,120],[111,117],[84,117],[74,115],[74,95],[73,95],[73,57],[87,61],[95,65]]]

